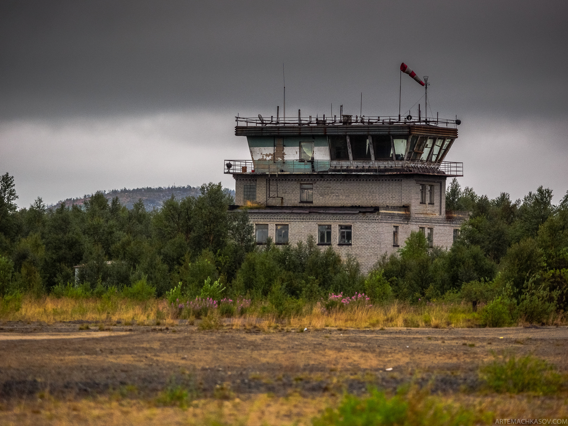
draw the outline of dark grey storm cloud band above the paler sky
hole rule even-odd
[[[444,115],[566,112],[566,2],[2,2],[3,118],[282,107],[398,112],[398,65]],[[405,76],[406,77],[406,76]],[[403,80],[403,109],[421,87]],[[337,110],[336,110],[337,111]]]

